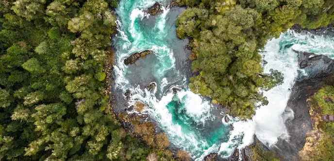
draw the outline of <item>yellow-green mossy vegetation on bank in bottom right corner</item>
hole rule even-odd
[[[322,116],[334,115],[334,86],[327,85],[310,99],[312,130],[300,151],[301,161],[334,160],[334,122],[324,122]]]

